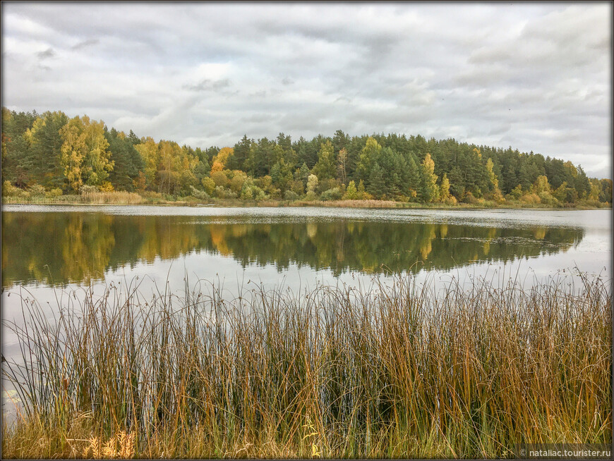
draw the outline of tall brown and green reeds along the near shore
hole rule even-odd
[[[582,280],[436,292],[397,278],[230,301],[214,285],[150,298],[111,286],[53,321],[23,302],[5,377],[25,407],[3,426],[3,455],[92,456],[128,436],[129,453],[155,458],[611,443],[611,281]]]

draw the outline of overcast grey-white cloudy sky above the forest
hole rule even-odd
[[[2,105],[192,147],[404,133],[610,177],[612,4],[2,3]]]

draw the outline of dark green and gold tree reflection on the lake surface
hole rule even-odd
[[[379,273],[452,269],[566,251],[582,228],[488,228],[445,223],[318,220],[258,222],[248,217],[4,213],[2,286],[102,280],[109,269],[152,264],[191,252],[231,257],[242,266],[290,264]],[[155,266],[152,266],[155,271]]]

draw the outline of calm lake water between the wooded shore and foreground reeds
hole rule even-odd
[[[399,274],[448,283],[611,279],[611,210],[433,210],[6,205],[2,318],[21,300],[49,317],[68,295],[109,284],[294,292]],[[572,275],[570,275],[572,271]],[[47,304],[48,303],[48,304]],[[3,326],[3,354],[18,350]],[[4,406],[4,399],[3,399]]]

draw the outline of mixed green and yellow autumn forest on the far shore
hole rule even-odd
[[[571,161],[421,135],[243,135],[233,147],[180,146],[88,116],[2,108],[2,195],[91,191],[196,199],[356,200],[569,207],[612,203],[612,180]]]

